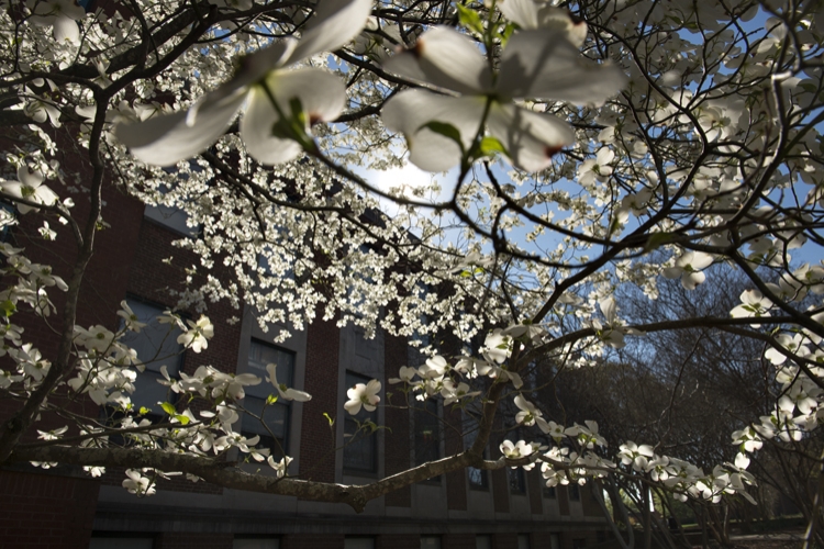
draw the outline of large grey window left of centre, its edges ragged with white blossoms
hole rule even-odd
[[[181,330],[174,324],[160,324],[157,316],[164,310],[156,305],[134,298],[126,298],[126,304],[137,316],[137,321],[146,324],[140,333],[127,332],[121,338],[124,345],[137,352],[140,361],[146,365],[143,372],[137,372],[135,391],[131,394],[132,405],[134,410],[149,410],[149,417],[159,417],[162,410],[158,403],[172,402],[175,396],[169,388],[158,383],[158,380],[164,379],[160,367],[166,366],[171,378],[179,376],[183,362],[183,346],[177,343],[177,338]]]

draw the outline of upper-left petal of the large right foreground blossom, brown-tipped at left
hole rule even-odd
[[[478,46],[447,26],[425,32],[412,49],[389,58],[383,68],[410,80],[461,93],[487,91],[492,82]]]

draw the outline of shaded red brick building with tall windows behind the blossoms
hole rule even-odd
[[[112,227],[99,234],[78,323],[115,328],[114,312],[123,299],[135,313],[146,316],[174,305],[168,287],[182,279],[180,266],[192,261],[186,261],[183,250],[171,245],[186,231],[179,214],[144,208],[115,189],[109,188],[104,194],[105,219]],[[36,234],[26,231],[26,224],[37,223],[34,215],[22,222],[11,235],[13,242],[25,247],[32,260],[55,265],[59,271],[59,254],[71,250],[55,253],[29,238],[26,235]],[[68,237],[57,242],[71,246]],[[163,261],[171,256],[176,260]],[[212,365],[227,372],[263,376],[263,365],[276,361],[281,381],[310,392],[312,401],[267,407],[268,432],[255,422],[244,422],[241,430],[263,434],[261,440],[274,451],[282,447],[292,456],[290,474],[364,483],[459,451],[470,442],[453,435],[457,430],[444,428],[467,418],[430,401],[424,411],[428,413],[379,407],[369,418],[387,425],[391,433],[379,430],[335,450],[355,428],[343,410],[347,386],[376,378],[386,390],[386,380],[414,360],[407,341],[382,333],[366,339],[358,328],[316,321],[287,343],[274,345],[252,311],[244,311],[235,324],[225,322],[237,314],[226,304],[213,305],[209,315],[216,329],[208,349],[165,363],[172,374]],[[35,332],[37,326],[26,324],[26,335],[47,354],[47,335]],[[179,350],[174,337],[158,343],[152,340],[151,329],[146,334],[130,341],[138,352],[153,346],[169,355]],[[141,374],[133,396],[138,405],[151,406],[165,396],[165,388],[153,379],[157,377],[153,366]],[[248,389],[245,406],[263,408],[268,389]],[[164,394],[158,396],[158,391]],[[386,391],[381,396],[386,402]],[[0,402],[0,413],[7,415],[10,405]],[[332,429],[324,413],[337,418]],[[434,416],[443,423],[432,421]],[[365,418],[361,415],[360,419]],[[121,486],[123,478],[122,471],[109,471],[101,479],[91,479],[65,467],[1,470],[0,547],[572,549],[598,545],[605,531],[588,489],[545,489],[537,470],[445,474],[372,501],[359,515],[344,505],[225,490],[182,479],[163,481],[156,495],[138,498]]]

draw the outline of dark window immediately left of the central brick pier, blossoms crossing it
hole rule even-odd
[[[278,383],[292,386],[294,354],[253,339],[249,344],[249,373],[266,379],[266,365],[269,363],[277,365]],[[271,383],[249,385],[244,391],[246,396],[243,399],[243,407],[247,413],[243,416],[241,434],[245,437],[259,436],[258,446],[269,448],[275,459],[280,459],[289,451],[291,402],[278,399],[277,402],[267,404],[269,395],[276,393]]]

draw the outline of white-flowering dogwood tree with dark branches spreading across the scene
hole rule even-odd
[[[12,243],[0,250],[0,391],[14,403],[0,463],[62,462],[91,474],[125,467],[123,485],[140,495],[181,472],[357,509],[466,467],[539,466],[548,485],[619,474],[719,501],[747,497],[748,455],[817,427],[820,2],[3,8],[0,184],[13,208],[2,223],[41,217],[43,246],[65,224],[76,251],[63,279]],[[66,149],[77,155],[71,168],[55,158]],[[372,182],[410,165],[444,173],[415,188]],[[199,256],[190,272],[200,276],[177,299],[178,311],[204,315],[160,318],[181,345],[208,346],[220,329],[208,304],[220,300],[292,330],[336,318],[412,345],[452,338],[460,345],[448,354],[424,346],[419,368],[387,368],[398,371],[390,383],[403,405],[444,399],[475,414],[470,448],[368,485],[303,480],[288,456],[275,459],[234,427],[244,386],[270,384],[271,402],[311,397],[278,382],[276,367],[263,380],[205,366],[180,378],[164,371],[159,381],[180,402],[197,400],[198,411],[162,403],[166,421],[149,422],[130,399],[145,365],[123,343],[141,329],[137,316],[124,303],[120,329],[76,324],[109,184],[182,209],[200,227],[179,243]],[[388,204],[391,215],[376,214]],[[210,274],[215,264],[231,279]],[[749,280],[728,314],[622,314],[617,288],[655,300],[661,277],[688,290],[712,284],[712,265]],[[65,292],[59,309],[55,292]],[[53,356],[21,329],[23,311],[55,328]],[[694,327],[751,337],[770,365],[770,405],[731,434],[741,449],[734,462],[704,470],[644,440],[608,447],[594,422],[570,425],[542,411],[542,365],[597,367],[637,338]],[[346,410],[385,404],[380,390],[377,380],[357,384]],[[64,414],[60,427],[38,429],[42,413],[66,399],[116,413]],[[500,459],[485,460],[492,432],[514,426],[528,438],[506,440]],[[42,440],[25,438],[38,432]],[[229,451],[268,461],[277,474],[226,467]]]

